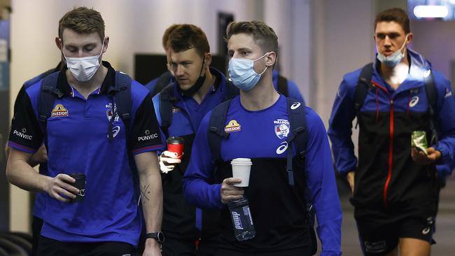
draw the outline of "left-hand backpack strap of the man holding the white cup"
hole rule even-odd
[[[221,159],[221,141],[223,138],[228,138],[229,134],[225,132],[225,120],[228,114],[230,99],[216,106],[210,115],[209,134],[207,141],[212,152],[212,162],[216,163]]]

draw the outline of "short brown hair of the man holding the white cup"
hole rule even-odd
[[[253,20],[251,22],[230,22],[226,29],[226,41],[235,34],[252,35],[262,53],[275,52],[278,55],[278,36],[275,31],[264,22]]]

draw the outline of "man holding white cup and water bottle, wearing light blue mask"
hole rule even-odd
[[[288,158],[288,150],[295,145],[288,143],[288,136],[297,134],[290,123],[288,99],[277,93],[272,84],[278,48],[274,30],[263,22],[232,22],[226,35],[229,73],[240,95],[228,102],[224,120],[216,117],[225,131],[219,134],[222,138],[219,154],[211,146],[214,144],[209,132],[216,128],[218,134],[219,129],[212,126],[210,118],[220,106],[202,118],[183,177],[185,198],[200,208],[221,209],[217,256],[307,256],[315,242],[307,225],[308,192],[316,209],[321,255],[341,255],[342,212],[321,118],[311,108],[301,110],[307,121],[305,157],[304,160],[300,157],[298,152],[302,151],[290,151],[293,157]],[[289,108],[303,106],[294,101]],[[228,178],[232,177],[231,160],[243,157],[253,162],[245,189],[235,187],[241,182],[239,178]],[[293,178],[286,175],[288,159],[295,169]],[[244,194],[248,197],[255,238],[238,241],[226,205]],[[239,227],[242,228],[241,224]]]

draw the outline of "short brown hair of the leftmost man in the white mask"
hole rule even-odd
[[[65,13],[59,21],[59,38],[62,38],[64,29],[71,29],[78,34],[92,34],[97,32],[104,40],[104,20],[101,13],[93,8],[73,8]],[[62,38],[63,39],[63,38]]]

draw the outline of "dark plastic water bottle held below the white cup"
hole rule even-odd
[[[230,201],[228,207],[232,225],[234,226],[235,238],[238,241],[253,239],[256,231],[253,225],[253,218],[251,218],[248,199],[243,197],[242,199]]]

